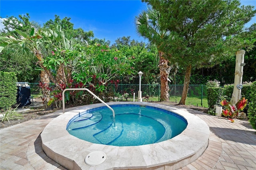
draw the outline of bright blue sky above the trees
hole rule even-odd
[[[256,6],[256,0],[241,0],[244,5]],[[134,18],[146,3],[140,0],[0,0],[0,16],[14,16],[28,13],[30,21],[43,24],[54,20],[54,15],[60,18],[69,17],[74,28],[84,31],[92,30],[94,37],[110,40],[111,43],[122,36],[131,36],[131,39],[145,41],[136,34]],[[254,17],[246,26],[256,23]]]

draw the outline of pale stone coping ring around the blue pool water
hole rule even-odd
[[[42,148],[46,155],[68,169],[178,169],[196,160],[207,148],[210,129],[199,117],[174,106],[147,102],[111,102],[108,105],[147,105],[172,111],[184,117],[187,128],[172,139],[141,146],[110,146],[94,144],[68,133],[66,125],[79,112],[104,106],[102,103],[74,107],[53,119],[41,133]],[[106,160],[97,166],[84,162],[87,154],[94,151],[107,154]]]

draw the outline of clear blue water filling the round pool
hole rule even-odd
[[[99,107],[73,117],[67,130],[73,136],[97,144],[138,146],[168,140],[180,134],[187,121],[170,111],[150,106],[112,105],[112,111]]]

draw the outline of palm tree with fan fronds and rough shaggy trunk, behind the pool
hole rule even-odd
[[[158,19],[160,17],[160,13],[156,10],[152,9],[151,6],[148,6],[146,11],[143,11],[139,16],[135,17],[135,25],[137,34],[144,38],[147,38],[150,43],[155,43],[158,49],[159,55],[159,70],[160,70],[160,83],[161,83],[161,101],[169,101],[169,86],[168,78],[170,73],[170,65],[168,65],[169,61],[165,58],[165,55],[162,51],[159,50],[160,45],[164,38],[168,37],[169,32],[165,30],[161,30],[158,24]]]

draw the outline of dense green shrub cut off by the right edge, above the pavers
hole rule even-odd
[[[248,108],[249,122],[254,129],[256,129],[256,81],[252,83],[250,91],[250,102]]]

